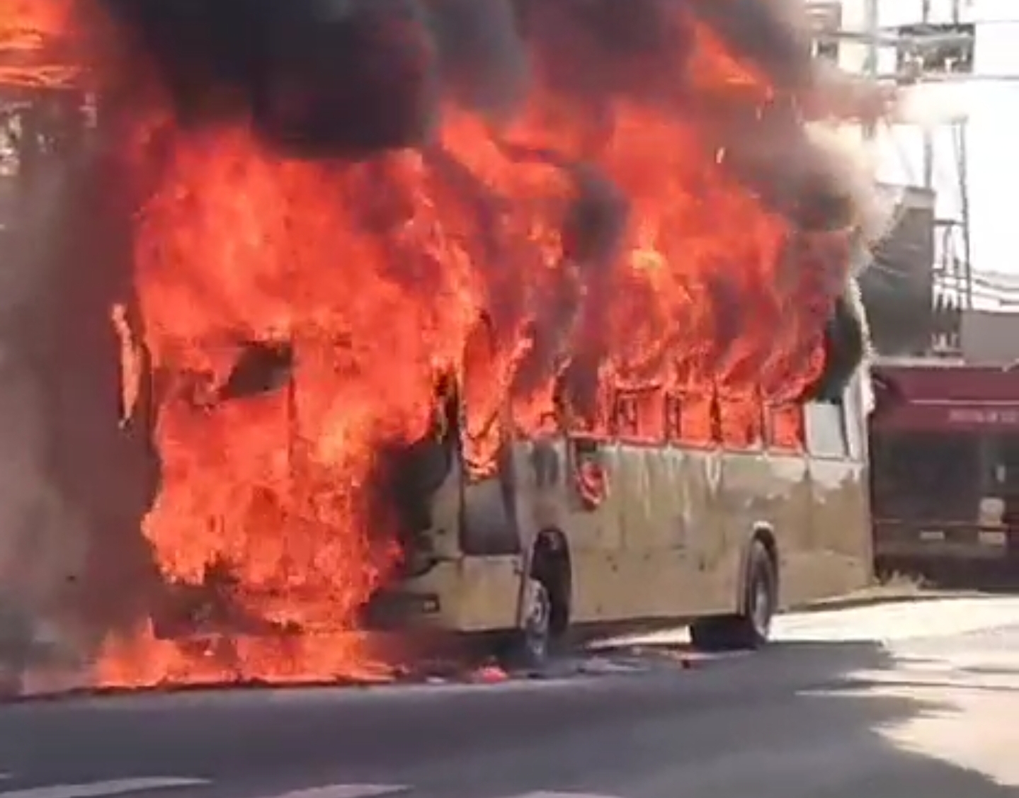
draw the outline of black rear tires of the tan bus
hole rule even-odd
[[[756,650],[771,634],[779,606],[779,574],[764,544],[755,540],[747,558],[747,577],[740,613],[695,621],[690,641],[702,651]]]

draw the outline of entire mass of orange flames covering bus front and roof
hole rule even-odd
[[[65,6],[14,3],[0,43],[38,49]],[[473,369],[478,472],[492,466],[499,405],[535,432],[582,361],[602,387],[683,397],[691,442],[753,442],[767,406],[776,434],[801,444],[785,411],[823,366],[830,283],[845,278],[830,264],[847,261],[848,234],[798,230],[728,168],[712,125],[776,93],[691,30],[685,115],[620,97],[610,124],[564,116],[539,81],[497,135],[450,111],[433,144],[357,163],[284,158],[243,119],[185,128],[164,108],[138,120],[137,141],[158,140],[122,164],[148,187],[135,225],[142,329],[122,309],[114,321],[130,374],[137,334],[153,375],[162,481],[144,534],[164,581],[201,588],[199,621],[231,644],[159,642],[147,621],[105,647],[104,682],[363,674],[374,652],[359,611],[399,558],[373,490],[378,455],[430,434],[440,373]],[[66,79],[0,66],[0,82]],[[492,368],[465,364],[482,314]],[[251,357],[275,367],[237,389]],[[603,432],[603,403],[575,393],[573,423]]]

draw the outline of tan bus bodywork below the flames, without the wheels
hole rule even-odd
[[[542,541],[566,568],[560,630],[733,614],[754,541],[773,561],[782,606],[862,587],[867,390],[860,369],[840,402],[796,406],[800,450],[769,440],[768,419],[760,445],[740,450],[690,445],[667,424],[598,437],[507,430],[490,476],[465,479],[453,458],[421,538],[427,555],[386,597],[442,629],[518,628]],[[627,398],[616,391],[612,412],[633,421]],[[662,392],[640,400],[645,418],[668,413]]]

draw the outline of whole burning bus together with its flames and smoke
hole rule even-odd
[[[873,209],[818,120],[890,98],[736,5],[14,2],[22,615],[102,684],[308,681],[861,584]]]

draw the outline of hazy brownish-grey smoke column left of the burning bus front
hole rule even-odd
[[[21,107],[0,176],[0,696],[84,680],[156,576],[140,526],[153,461],[118,424],[110,321],[131,292],[129,216],[77,100]]]

